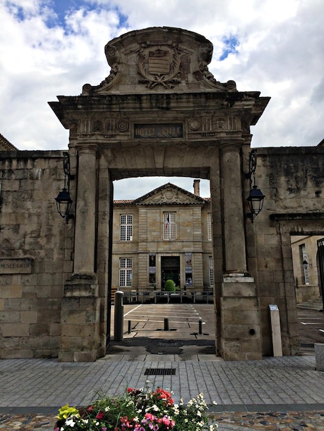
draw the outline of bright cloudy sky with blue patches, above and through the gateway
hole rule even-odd
[[[252,127],[254,147],[317,145],[323,138],[323,0],[1,0],[0,133],[19,149],[67,149],[48,101],[79,95],[108,76],[104,45],[130,30],[185,28],[214,44],[209,69],[239,91],[271,96]],[[115,184],[115,198],[137,198],[192,178]],[[207,181],[201,195],[209,196]]]

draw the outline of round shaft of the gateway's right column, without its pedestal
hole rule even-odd
[[[240,149],[239,143],[226,143],[221,146],[226,273],[246,272]]]

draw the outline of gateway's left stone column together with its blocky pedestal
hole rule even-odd
[[[95,361],[100,341],[100,298],[94,273],[96,147],[79,147],[74,273],[61,302],[59,361]]]

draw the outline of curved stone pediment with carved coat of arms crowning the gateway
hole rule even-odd
[[[110,74],[100,85],[83,85],[83,95],[168,90],[236,91],[208,70],[213,45],[201,34],[153,27],[123,34],[105,45]]]

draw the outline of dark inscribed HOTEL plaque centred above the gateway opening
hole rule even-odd
[[[134,124],[134,139],[183,138],[182,123]]]

